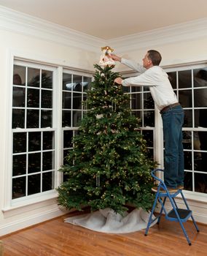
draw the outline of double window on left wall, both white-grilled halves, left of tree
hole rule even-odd
[[[60,70],[62,84],[58,84],[57,67],[14,61],[10,198],[14,205],[55,192],[60,184],[58,168],[73,147],[72,138],[86,111],[82,102],[92,75]]]

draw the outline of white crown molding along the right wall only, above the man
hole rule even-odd
[[[129,50],[152,48],[204,37],[207,37],[207,18],[117,37],[108,40],[107,43],[119,53],[128,53]]]

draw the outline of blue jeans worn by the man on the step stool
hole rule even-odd
[[[167,187],[176,188],[184,184],[184,151],[182,125],[184,110],[180,105],[162,114],[165,141],[164,182]]]

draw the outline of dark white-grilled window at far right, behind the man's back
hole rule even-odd
[[[195,66],[168,72],[184,108],[184,189],[207,193],[207,68]]]

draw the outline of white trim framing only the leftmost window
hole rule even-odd
[[[22,53],[23,54],[23,53]],[[24,56],[25,54],[23,54]],[[8,58],[8,72],[7,72],[7,144],[6,144],[6,166],[4,168],[4,206],[2,208],[2,211],[8,212],[12,210],[16,210],[17,208],[21,208],[24,206],[29,206],[34,203],[39,203],[44,200],[49,200],[51,198],[55,198],[58,196],[58,193],[55,189],[52,189],[47,192],[42,192],[34,195],[29,195],[27,197],[20,197],[15,200],[12,200],[12,72],[13,72],[13,65],[21,63],[26,61],[26,63],[29,63],[30,67],[38,67],[45,68],[51,70],[53,72],[53,84],[57,85],[54,86],[52,89],[53,95],[55,95],[55,100],[53,100],[53,127],[52,130],[55,131],[55,187],[58,187],[62,180],[61,173],[59,173],[57,170],[59,169],[61,162],[62,162],[62,140],[61,140],[61,127],[55,126],[55,124],[60,124],[61,120],[61,108],[58,108],[58,106],[61,106],[61,89],[62,89],[62,72],[63,67],[58,67],[55,65],[47,64],[45,61],[35,61],[34,56],[31,56],[31,58],[23,58],[21,54],[15,53],[14,50],[9,51],[9,58]]]

